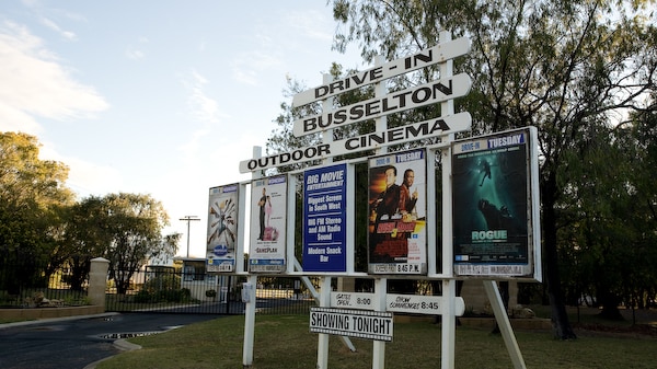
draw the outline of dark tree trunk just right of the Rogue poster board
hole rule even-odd
[[[554,174],[543,183],[541,188],[543,205],[543,266],[545,284],[548,285],[548,297],[552,315],[552,327],[558,339],[575,339],[561,286],[558,274],[558,255],[556,251],[556,214],[554,211],[554,194],[556,193],[556,178]]]

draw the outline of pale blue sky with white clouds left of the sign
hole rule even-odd
[[[325,0],[3,0],[0,131],[37,137],[41,159],[70,169],[78,199],[149,194],[205,257],[208,189],[249,181],[286,79],[320,85],[354,50],[331,49]],[[365,67],[367,68],[367,66]]]

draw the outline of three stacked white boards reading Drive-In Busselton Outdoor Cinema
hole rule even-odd
[[[401,76],[438,62],[443,62],[468,54],[470,51],[470,46],[471,44],[468,37],[461,37],[439,44],[420,50],[412,56],[392,60],[381,66],[350,74],[344,79],[332,81],[298,93],[293,97],[292,105],[301,106],[310,104],[343,92],[362,88],[370,83],[384,81],[391,77]],[[470,91],[471,84],[472,81],[470,77],[464,73],[438,81],[431,81],[403,91],[393,92],[388,96],[370,99],[353,105],[338,107],[332,112],[323,112],[322,114],[298,119],[295,122],[293,134],[296,136],[309,135],[464,96]],[[468,130],[471,123],[472,117],[469,113],[442,116],[420,123],[410,123],[401,127],[358,137],[350,137],[339,141],[299,148],[291,152],[244,160],[240,162],[240,173],[255,172],[312,160],[328,159],[390,145],[456,134]]]

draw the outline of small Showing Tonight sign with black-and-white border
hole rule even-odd
[[[313,333],[392,342],[392,313],[388,312],[310,309],[310,332]]]

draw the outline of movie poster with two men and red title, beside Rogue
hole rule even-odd
[[[369,159],[369,273],[426,274],[426,151]]]

